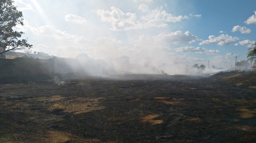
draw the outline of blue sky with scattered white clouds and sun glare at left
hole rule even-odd
[[[231,67],[256,41],[255,0],[14,1],[32,50],[59,57]]]

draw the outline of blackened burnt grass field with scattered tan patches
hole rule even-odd
[[[0,142],[256,142],[256,73],[1,84]]]

